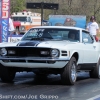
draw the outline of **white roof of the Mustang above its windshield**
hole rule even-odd
[[[65,29],[76,29],[76,30],[84,30],[86,31],[84,28],[80,28],[80,27],[72,27],[72,26],[36,26],[33,28],[65,28]]]

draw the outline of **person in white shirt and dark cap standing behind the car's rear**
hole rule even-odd
[[[90,22],[87,24],[87,30],[90,32],[91,35],[96,37],[97,33],[99,32],[99,25],[96,22],[95,16],[91,16]]]

